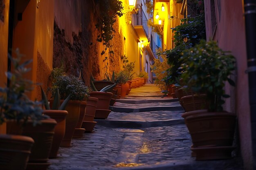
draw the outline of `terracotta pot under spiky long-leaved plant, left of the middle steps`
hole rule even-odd
[[[101,91],[90,92],[91,97],[98,98],[97,109],[108,109],[112,95],[113,93],[110,93],[110,92],[101,92]]]

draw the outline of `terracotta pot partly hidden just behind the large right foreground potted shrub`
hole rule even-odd
[[[207,108],[207,103],[205,102],[205,94],[201,95],[188,95],[180,99],[182,102],[182,107],[186,112],[193,110],[201,110]]]

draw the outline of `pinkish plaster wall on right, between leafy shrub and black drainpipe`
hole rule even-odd
[[[206,14],[207,40],[212,38],[209,1],[204,1]],[[252,168],[251,125],[248,95],[245,22],[243,18],[243,0],[215,0],[217,29],[213,40],[218,42],[224,51],[231,51],[237,60],[236,88],[226,86],[231,94],[226,101],[225,109],[238,116],[240,150],[246,169]]]

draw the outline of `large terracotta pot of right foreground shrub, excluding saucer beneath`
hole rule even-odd
[[[232,146],[236,115],[228,112],[195,110],[182,114],[193,146]]]

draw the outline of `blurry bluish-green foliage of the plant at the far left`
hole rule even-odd
[[[16,50],[17,57],[8,56],[11,60],[13,71],[7,71],[9,85],[0,87],[0,124],[6,120],[24,121],[32,120],[34,126],[40,123],[40,120],[47,118],[43,115],[41,102],[31,101],[25,93],[34,89],[34,83],[25,79],[24,75],[31,69],[26,66],[32,60],[20,63],[22,55]]]

